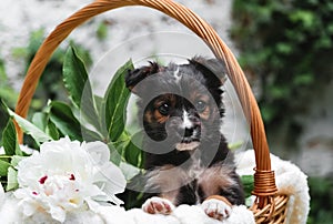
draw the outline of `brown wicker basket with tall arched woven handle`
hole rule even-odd
[[[32,95],[46,64],[57,47],[73,29],[97,14],[128,6],[149,7],[176,19],[204,40],[216,58],[226,62],[230,80],[241,101],[246,120],[251,124],[251,136],[255,150],[256,167],[252,194],[256,196],[256,200],[250,210],[253,212],[256,223],[284,223],[289,197],[276,194],[278,189],[275,186],[274,172],[271,171],[270,151],[264,125],[242,69],[225,43],[205,21],[172,0],[95,0],[69,17],[54,29],[38,50],[27,72],[16,112],[23,118],[27,116]],[[19,128],[17,129],[19,138],[22,140],[22,132]]]

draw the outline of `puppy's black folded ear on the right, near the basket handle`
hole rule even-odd
[[[190,64],[201,71],[206,79],[218,81],[221,85],[226,81],[225,63],[219,59],[205,59],[203,57],[194,57],[190,59]]]

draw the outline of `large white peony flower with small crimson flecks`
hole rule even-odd
[[[49,213],[63,222],[68,212],[98,211],[100,202],[122,203],[125,179],[110,162],[102,142],[80,143],[63,138],[46,142],[40,152],[18,164],[19,189],[14,192],[24,216]]]

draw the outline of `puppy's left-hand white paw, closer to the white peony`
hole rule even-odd
[[[153,196],[143,203],[142,210],[150,214],[168,215],[174,210],[174,205],[169,200]]]

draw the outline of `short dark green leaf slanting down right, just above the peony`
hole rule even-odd
[[[69,105],[62,102],[51,102],[50,120],[63,135],[68,135],[71,140],[83,141],[81,124]]]

